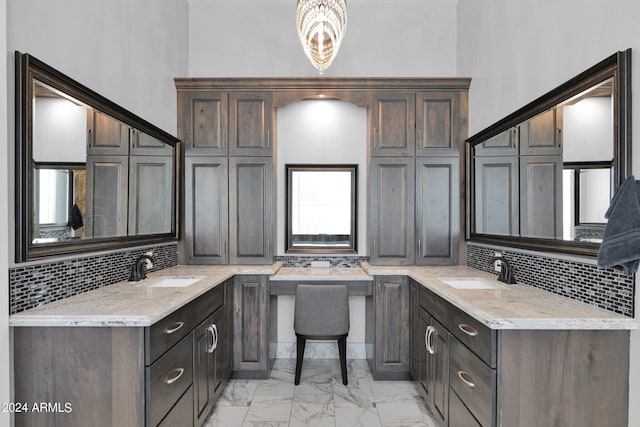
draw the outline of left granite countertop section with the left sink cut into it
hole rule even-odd
[[[9,317],[9,326],[151,326],[236,274],[274,274],[280,264],[180,265],[55,301]],[[165,276],[203,276],[186,287],[152,287]]]

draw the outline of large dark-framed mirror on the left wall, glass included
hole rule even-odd
[[[16,261],[177,239],[179,141],[16,52]]]

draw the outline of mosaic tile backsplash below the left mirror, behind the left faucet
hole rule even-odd
[[[149,251],[156,260],[150,271],[178,265],[178,245],[170,244],[11,268],[10,313],[125,281],[134,260]]]

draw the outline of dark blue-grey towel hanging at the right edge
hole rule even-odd
[[[640,263],[640,182],[628,177],[604,216],[609,221],[598,251],[598,268],[634,274]]]

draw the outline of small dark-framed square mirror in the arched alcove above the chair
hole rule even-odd
[[[356,252],[357,165],[286,165],[287,252]]]

